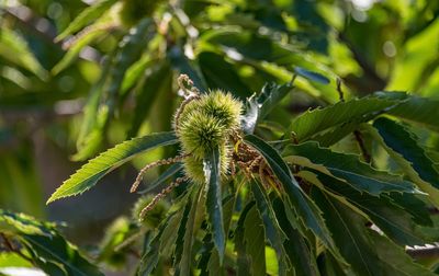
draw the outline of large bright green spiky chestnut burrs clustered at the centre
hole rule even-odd
[[[204,183],[203,159],[215,147],[221,152],[221,172],[229,169],[233,145],[230,135],[239,129],[243,104],[229,93],[213,91],[202,94],[184,105],[178,122],[175,122],[185,158],[187,176],[195,183]]]

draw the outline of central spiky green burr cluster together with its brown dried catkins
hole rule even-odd
[[[140,220],[162,197],[182,182],[191,180],[194,183],[204,184],[203,160],[212,149],[219,149],[221,173],[226,175],[229,169],[234,171],[234,164],[230,165],[233,163],[230,162],[234,148],[233,135],[240,128],[243,104],[232,94],[219,90],[200,94],[187,76],[181,76],[178,81],[187,94],[185,100],[176,112],[173,123],[182,153],[147,164],[138,173],[131,192],[134,193],[137,189],[143,175],[148,170],[158,165],[181,161],[184,165],[185,176],[178,177],[140,210],[136,208]]]

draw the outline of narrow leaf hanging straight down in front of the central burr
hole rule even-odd
[[[225,233],[223,223],[222,192],[221,192],[221,161],[219,149],[214,148],[203,160],[204,176],[207,185],[207,217],[213,240],[219,255],[219,263],[223,262],[225,252]]]

